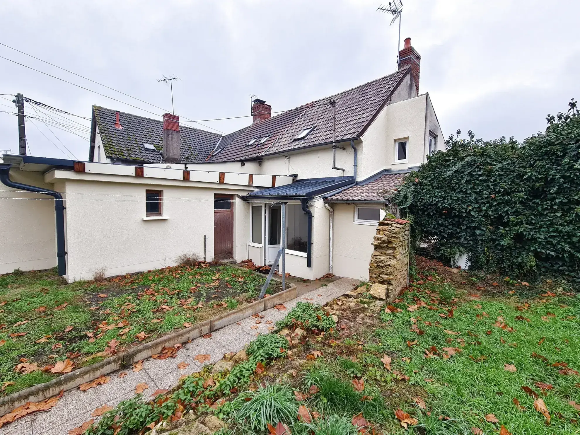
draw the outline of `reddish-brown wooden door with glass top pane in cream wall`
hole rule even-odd
[[[234,197],[218,195],[213,198],[213,259],[234,258]]]

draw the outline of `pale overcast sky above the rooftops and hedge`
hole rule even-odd
[[[422,56],[419,92],[430,93],[445,136],[459,128],[484,139],[521,140],[543,131],[546,114],[564,111],[571,97],[580,97],[580,1],[403,3],[401,39],[411,37]],[[175,111],[182,121],[235,117],[249,113],[251,94],[273,111],[286,110],[392,73],[398,28],[375,12],[379,5],[380,0],[4,0],[0,42],[168,110],[169,87],[157,79],[176,75]],[[4,46],[0,56],[162,113]],[[0,59],[0,93],[16,92],[84,117],[90,117],[92,104],[155,117]],[[13,97],[2,97],[0,111],[13,112]],[[37,115],[28,106],[26,112]],[[229,133],[249,122],[203,124]],[[64,144],[86,160],[88,140],[52,130],[58,139],[42,121],[27,121],[33,155],[68,157]],[[0,150],[16,153],[17,138],[16,117],[0,112]]]

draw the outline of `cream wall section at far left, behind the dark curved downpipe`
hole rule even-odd
[[[10,179],[54,190],[38,172],[12,169]],[[56,266],[55,228],[52,197],[0,184],[0,274]]]

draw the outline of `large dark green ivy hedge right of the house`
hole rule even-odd
[[[569,106],[522,143],[450,136],[391,196],[416,246],[447,262],[467,253],[474,269],[580,281],[580,115]]]

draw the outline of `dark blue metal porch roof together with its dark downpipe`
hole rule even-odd
[[[269,189],[256,190],[242,197],[245,201],[252,202],[289,202],[300,201],[302,211],[307,217],[307,245],[306,245],[306,267],[312,264],[312,212],[308,205],[314,197],[333,193],[344,189],[354,183],[353,177],[327,177],[309,178],[297,180],[292,184],[285,184],[280,187],[270,187]]]

